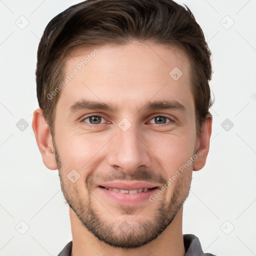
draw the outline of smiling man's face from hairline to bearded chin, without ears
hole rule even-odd
[[[61,188],[96,237],[134,248],[171,223],[189,191],[198,149],[189,62],[159,44],[95,48],[66,62],[66,75],[77,73],[56,105]]]

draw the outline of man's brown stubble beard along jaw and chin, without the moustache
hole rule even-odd
[[[175,188],[169,201],[166,201],[166,193],[162,199],[155,200],[154,202],[148,200],[149,203],[158,204],[157,208],[154,210],[154,216],[151,219],[147,219],[143,223],[141,221],[128,223],[125,221],[125,215],[135,215],[136,212],[139,211],[137,211],[136,206],[120,205],[120,215],[123,215],[123,221],[116,221],[114,216],[111,221],[106,220],[103,214],[100,213],[100,210],[93,207],[94,196],[90,188],[86,188],[88,194],[87,200],[79,196],[77,186],[74,185],[75,183],[67,179],[66,174],[64,174],[64,169],[61,170],[61,161],[55,146],[54,151],[59,170],[61,190],[66,203],[68,203],[70,208],[80,219],[81,224],[88,231],[100,241],[113,247],[137,248],[154,240],[172,222],[177,211],[186,200],[190,190],[191,175],[187,175],[186,180],[184,180],[183,175],[180,175],[178,179],[176,179]],[[137,214],[139,215],[139,213]]]

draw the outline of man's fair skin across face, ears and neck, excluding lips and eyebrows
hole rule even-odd
[[[72,52],[66,74],[93,49]],[[58,168],[70,206],[71,255],[184,255],[182,204],[192,170],[205,164],[212,121],[207,115],[197,137],[188,57],[175,47],[138,41],[97,49],[95,57],[61,89],[54,140],[40,108],[32,121],[42,160],[47,168]],[[169,75],[175,66],[183,73],[177,80]],[[81,99],[119,109],[68,112]],[[176,100],[185,111],[141,108],[149,100]],[[102,116],[101,123],[93,126],[89,115]],[[155,117],[162,115],[167,118],[157,122]],[[123,118],[131,125],[126,131],[118,126]],[[149,180],[162,187],[196,152],[200,155],[153,202],[116,203],[98,187],[107,179]],[[73,169],[80,176],[70,182],[67,175]],[[120,229],[123,223],[125,231]]]

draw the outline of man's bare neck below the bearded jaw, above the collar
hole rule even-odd
[[[71,256],[184,256],[185,248],[182,234],[182,210],[183,207],[181,206],[172,222],[151,242],[138,248],[122,249],[112,247],[100,241],[81,224],[74,211],[69,208],[73,241]]]

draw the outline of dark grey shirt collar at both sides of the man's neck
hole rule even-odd
[[[215,256],[211,253],[204,253],[198,237],[193,234],[183,234],[183,241],[185,247],[184,256]],[[71,249],[72,241],[66,244],[66,246],[59,252],[58,256],[70,256]]]

